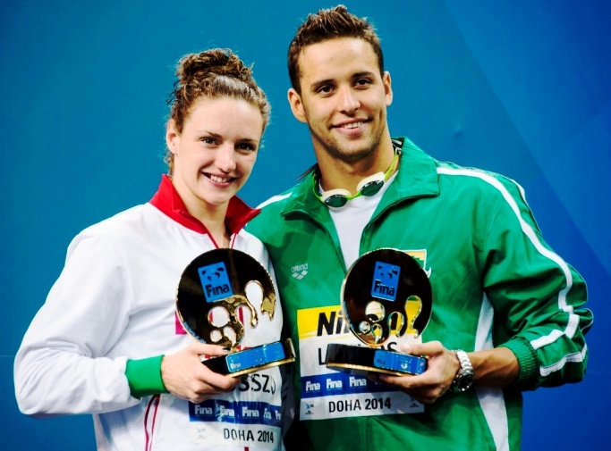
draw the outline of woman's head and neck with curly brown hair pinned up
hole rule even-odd
[[[184,56],[176,76],[165,161],[189,212],[226,247],[227,205],[250,176],[270,107],[250,68],[222,50]]]

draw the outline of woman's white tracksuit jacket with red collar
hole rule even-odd
[[[148,204],[73,239],[64,271],[15,358],[22,413],[92,413],[99,450],[282,447],[278,367],[252,373],[232,393],[199,405],[169,394],[141,399],[130,394],[124,374],[128,359],[173,354],[194,340],[177,321],[176,288],[185,267],[216,244],[185,211],[164,176]],[[252,255],[274,278],[267,250],[242,230],[254,214],[232,199],[226,220],[232,247]],[[242,346],[280,338],[279,302],[276,308],[273,320],[259,315],[259,326],[247,331]],[[243,313],[248,318],[248,309]]]

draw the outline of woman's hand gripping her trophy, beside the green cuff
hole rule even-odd
[[[191,403],[200,403],[220,393],[228,393],[241,378],[223,376],[212,372],[201,363],[201,355],[226,355],[223,347],[192,343],[173,355],[161,360],[161,379],[165,388],[175,397],[182,397]]]

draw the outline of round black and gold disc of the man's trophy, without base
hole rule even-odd
[[[427,273],[403,251],[377,249],[352,264],[342,285],[344,316],[369,347],[391,335],[419,336],[429,324],[432,291]]]

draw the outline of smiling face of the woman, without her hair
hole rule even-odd
[[[231,97],[197,100],[182,133],[169,121],[165,141],[174,155],[174,188],[195,217],[226,209],[246,183],[263,134],[259,108]]]

